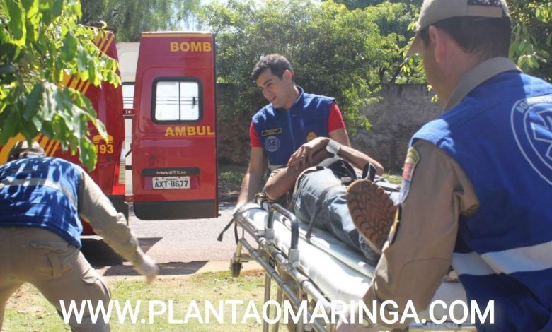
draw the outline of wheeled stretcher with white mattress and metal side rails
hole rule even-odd
[[[300,223],[295,215],[278,204],[261,198],[242,206],[235,214],[236,251],[231,259],[231,273],[238,277],[242,263],[254,259],[265,270],[264,300],[272,299],[271,285],[277,285],[276,301],[286,299],[297,309],[304,300],[307,323],[299,320],[291,329],[295,331],[333,331],[335,324],[328,324],[315,314],[316,306],[323,306],[328,316],[332,302],[358,302],[367,291],[374,275],[374,266],[364,262],[362,254],[347,247],[328,232],[314,228],[310,241],[306,240],[308,224]],[[415,285],[413,285],[415,287]],[[442,283],[434,300],[442,300],[447,308],[455,300],[466,303],[466,293],[460,283]],[[283,307],[283,306],[282,306]],[[454,307],[454,317],[461,317]],[[272,313],[272,316],[275,316]],[[435,319],[449,315],[444,306],[435,306]],[[315,319],[311,319],[312,316]],[[420,321],[411,323],[409,331],[475,331],[473,325],[454,324],[445,321],[432,324],[429,313],[418,313]],[[279,324],[272,324],[272,331]],[[290,328],[290,325],[287,326]],[[268,321],[263,322],[263,331],[269,331]],[[387,330],[372,326],[367,331]]]

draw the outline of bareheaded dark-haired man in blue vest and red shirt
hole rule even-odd
[[[268,54],[253,68],[251,78],[270,102],[251,121],[251,156],[236,207],[258,193],[267,168],[272,171],[292,160],[311,159],[314,150],[304,143],[329,137],[350,146],[340,109],[333,98],[305,93],[295,85],[291,64],[280,54]]]

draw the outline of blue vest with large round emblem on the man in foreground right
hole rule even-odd
[[[552,85],[517,71],[471,91],[414,136],[464,170],[479,208],[452,257],[468,300],[494,300],[479,331],[552,331]]]

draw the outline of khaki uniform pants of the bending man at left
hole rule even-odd
[[[42,292],[61,315],[60,300],[66,311],[71,300],[76,308],[81,301],[95,305],[110,300],[107,284],[86,261],[81,251],[53,232],[33,227],[0,227],[0,330],[6,302],[23,283],[31,283]],[[88,306],[81,324],[71,317],[73,331],[109,331],[100,315],[93,324]]]

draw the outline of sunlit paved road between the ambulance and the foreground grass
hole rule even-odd
[[[191,220],[139,220],[131,211],[129,222],[142,249],[159,263],[161,275],[223,271],[236,249],[234,227],[224,233],[222,242],[217,237],[231,220],[233,208],[232,203],[221,203],[219,218]],[[82,251],[103,275],[137,275],[100,237],[85,237]],[[251,268],[258,266],[244,266]]]

